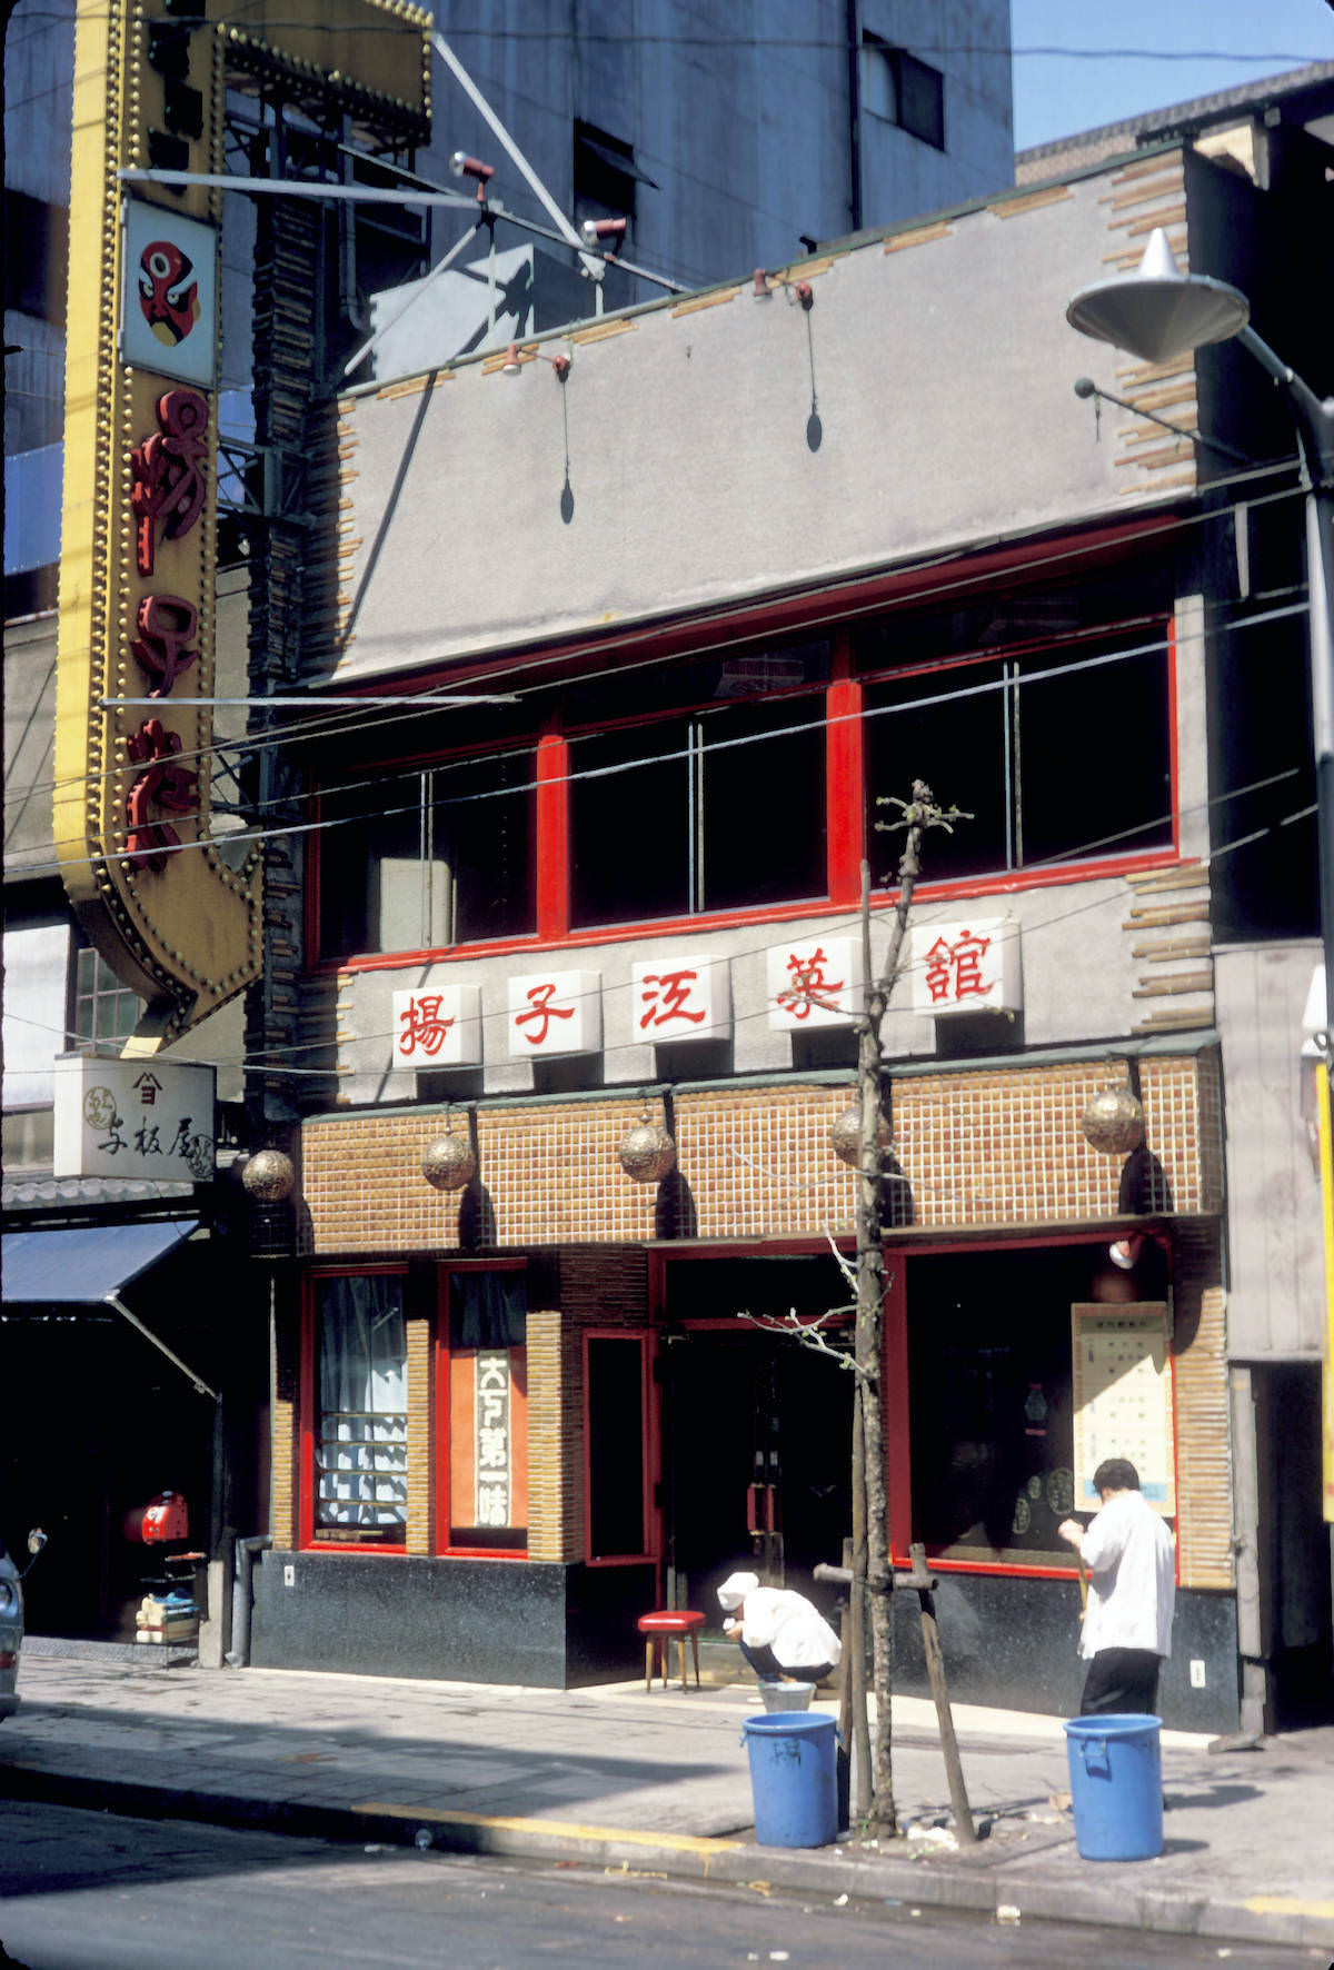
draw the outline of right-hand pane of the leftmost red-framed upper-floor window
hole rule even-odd
[[[435,942],[475,944],[536,930],[536,758],[437,766],[432,861],[453,886],[453,930]]]

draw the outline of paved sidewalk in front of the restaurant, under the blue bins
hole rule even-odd
[[[934,1708],[897,1698],[904,1836],[761,1848],[753,1684],[560,1692],[39,1649],[0,1728],[0,1797],[1334,1950],[1334,1728],[1232,1751],[1165,1730],[1165,1852],[1084,1862],[1060,1718],[956,1706],[989,1822],[960,1850]]]

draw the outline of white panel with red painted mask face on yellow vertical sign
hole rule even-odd
[[[120,359],[213,388],[217,232],[164,205],[126,199]]]

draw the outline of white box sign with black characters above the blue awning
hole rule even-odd
[[[169,1060],[55,1062],[55,1176],[213,1178],[215,1070]]]

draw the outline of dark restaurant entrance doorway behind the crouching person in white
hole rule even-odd
[[[847,1300],[832,1257],[668,1267],[668,1588],[678,1606],[705,1609],[709,1627],[721,1627],[717,1588],[735,1568],[808,1594],[812,1568],[841,1560],[851,1535],[853,1377],[837,1359],[741,1316],[772,1320],[790,1308],[810,1316]],[[828,1588],[812,1598],[832,1604]]]

